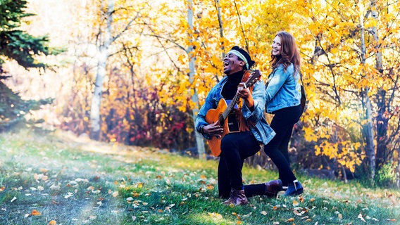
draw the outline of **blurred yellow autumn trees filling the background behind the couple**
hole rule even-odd
[[[0,8],[12,2],[17,1],[2,0]],[[270,43],[276,32],[287,30],[299,44],[309,99],[290,143],[294,169],[325,169],[345,181],[360,177],[371,185],[399,185],[399,1],[18,3],[37,14],[23,25],[23,33],[49,35],[29,37],[29,44],[49,41],[66,51],[41,58],[61,66],[40,70],[42,79],[31,78],[35,72],[19,70],[13,62],[46,68],[26,63],[36,62],[35,54],[56,51],[31,46],[18,58],[5,50],[27,44],[3,37],[30,14],[8,16],[11,10],[1,9],[1,76],[27,78],[4,81],[11,89],[1,86],[1,98],[4,92],[54,98],[35,115],[51,129],[194,154],[199,139],[193,119],[208,90],[223,77],[225,53],[234,45],[247,49],[265,81]],[[3,112],[14,101],[1,101],[0,122],[10,120]],[[273,167],[262,152],[247,162]]]

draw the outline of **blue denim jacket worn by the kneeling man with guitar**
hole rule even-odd
[[[227,82],[227,77],[223,77],[218,84],[216,84],[206,97],[204,105],[201,106],[199,113],[196,117],[196,130],[199,131],[201,126],[206,126],[208,123],[205,120],[206,113],[212,108],[217,108],[220,99],[223,98],[221,91],[223,85]],[[268,125],[264,117],[265,105],[265,85],[262,81],[256,82],[253,89],[254,111],[251,112],[246,104],[243,104],[242,113],[246,120],[256,122],[255,127],[251,127],[251,132],[260,143],[267,144],[275,136],[275,131]],[[207,134],[203,134],[206,139],[211,139]]]

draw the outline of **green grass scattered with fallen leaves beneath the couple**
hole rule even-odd
[[[399,190],[298,174],[297,197],[221,205],[218,162],[68,132],[0,136],[0,224],[399,224]],[[277,177],[244,168],[247,184]]]

